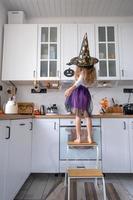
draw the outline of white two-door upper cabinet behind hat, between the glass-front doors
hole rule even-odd
[[[71,58],[78,56],[84,34],[87,33],[91,56],[95,56],[94,24],[63,24],[61,25],[61,79],[74,80],[74,76],[64,75],[66,69],[75,70],[75,66],[68,66],[66,63]]]

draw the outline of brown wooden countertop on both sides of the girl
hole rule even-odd
[[[17,115],[17,114],[0,114],[0,120],[16,120],[16,119],[74,119],[72,114],[49,114],[49,115]],[[95,114],[92,118],[133,118],[133,115],[124,115],[123,113],[105,113]]]

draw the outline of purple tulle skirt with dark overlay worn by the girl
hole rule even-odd
[[[92,101],[88,88],[80,85],[66,98],[65,107],[68,112],[77,116],[89,117],[92,113]]]

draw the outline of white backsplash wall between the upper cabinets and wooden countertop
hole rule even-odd
[[[131,86],[130,86],[131,87]],[[44,94],[31,94],[32,85],[19,85],[17,86],[17,102],[33,102],[38,108],[40,105],[44,105],[45,108],[56,104],[59,113],[66,113],[64,101],[64,91],[65,89],[49,89],[47,93]],[[93,100],[93,114],[99,113],[100,110],[100,100],[107,97],[110,102],[112,97],[117,104],[124,104],[128,102],[129,94],[123,93],[123,88],[128,88],[127,86],[119,86],[112,88],[90,88],[90,92]],[[131,95],[130,102],[133,102],[133,97]]]

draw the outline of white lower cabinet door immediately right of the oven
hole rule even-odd
[[[128,119],[102,119],[104,172],[130,172]]]

